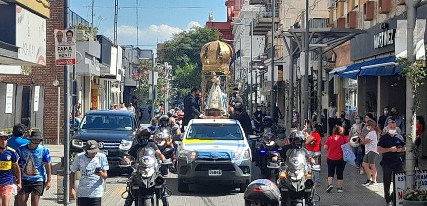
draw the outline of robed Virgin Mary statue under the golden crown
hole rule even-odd
[[[221,92],[221,80],[217,77],[215,72],[211,73],[210,81],[212,86],[210,87],[209,94],[206,100],[206,109],[216,109],[216,110],[225,110],[225,99],[223,98],[223,93]]]

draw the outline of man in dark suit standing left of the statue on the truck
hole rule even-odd
[[[200,111],[200,105],[198,98],[200,97],[199,88],[191,89],[190,94],[188,94],[184,99],[184,119],[182,125],[186,128],[188,122],[191,119],[202,118],[206,119],[206,116]],[[184,127],[182,127],[184,129]],[[185,129],[184,129],[185,130]]]

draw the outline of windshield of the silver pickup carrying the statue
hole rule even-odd
[[[186,139],[243,140],[242,131],[237,124],[192,124]]]

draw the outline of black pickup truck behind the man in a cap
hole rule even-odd
[[[93,139],[107,156],[110,168],[130,168],[123,157],[140,127],[137,115],[131,111],[89,111],[71,139],[71,155],[83,152],[86,141]]]

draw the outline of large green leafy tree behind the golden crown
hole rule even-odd
[[[158,62],[167,62],[174,68],[172,87],[181,91],[200,87],[200,50],[206,43],[217,40],[218,34],[217,29],[193,27],[173,35],[171,40],[164,43],[164,48],[157,51]]]

